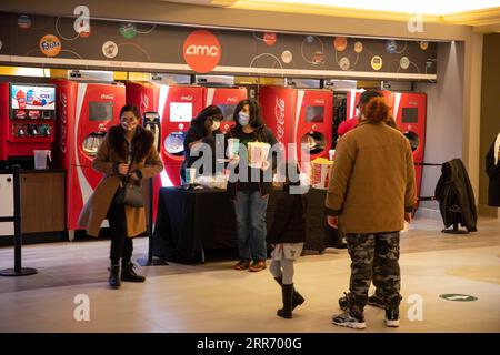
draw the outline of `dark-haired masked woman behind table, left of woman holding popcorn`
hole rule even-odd
[[[191,121],[189,130],[184,138],[184,160],[181,164],[180,175],[182,182],[186,181],[186,169],[191,168],[192,164],[202,159],[203,154],[199,156],[191,154],[197,149],[197,143],[206,143],[212,150],[212,173],[214,173],[216,166],[216,134],[221,133],[220,122],[222,121],[222,111],[216,105],[209,105],[201,110],[200,113]],[[200,174],[203,173],[201,170]]]

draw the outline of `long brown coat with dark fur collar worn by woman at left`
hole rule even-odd
[[[142,180],[154,176],[163,170],[160,156],[153,145],[151,132],[138,126],[138,134],[132,140],[134,151],[138,153],[137,163],[133,162],[131,172],[139,170],[142,173]],[[102,221],[107,219],[109,206],[120,185],[118,175],[118,164],[127,163],[127,143],[121,128],[116,125],[110,129],[96,159],[92,168],[104,174],[93,194],[87,201],[80,213],[79,225],[87,226],[87,233],[98,236]],[[126,205],[127,234],[137,236],[146,231],[146,212],[143,207],[131,207]]]

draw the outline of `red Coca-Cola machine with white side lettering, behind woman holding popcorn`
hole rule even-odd
[[[286,149],[287,160],[300,162],[303,153],[310,154],[311,160],[328,158],[333,121],[330,90],[261,87],[259,102],[266,124]],[[293,152],[288,152],[289,143],[297,144]],[[304,152],[302,144],[307,145]]]

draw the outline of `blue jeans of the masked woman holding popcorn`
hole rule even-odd
[[[240,258],[264,261],[266,246],[266,210],[268,197],[259,191],[238,191],[234,201],[234,212],[238,225],[238,248]]]

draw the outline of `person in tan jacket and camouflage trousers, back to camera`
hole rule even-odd
[[[390,108],[371,95],[361,106],[358,128],[339,141],[327,194],[328,223],[346,234],[351,256],[348,311],[334,315],[334,325],[362,329],[363,308],[372,281],[373,261],[381,267],[386,324],[399,325],[399,231],[411,221],[416,201],[410,143],[384,122]],[[362,100],[360,100],[362,101]]]

